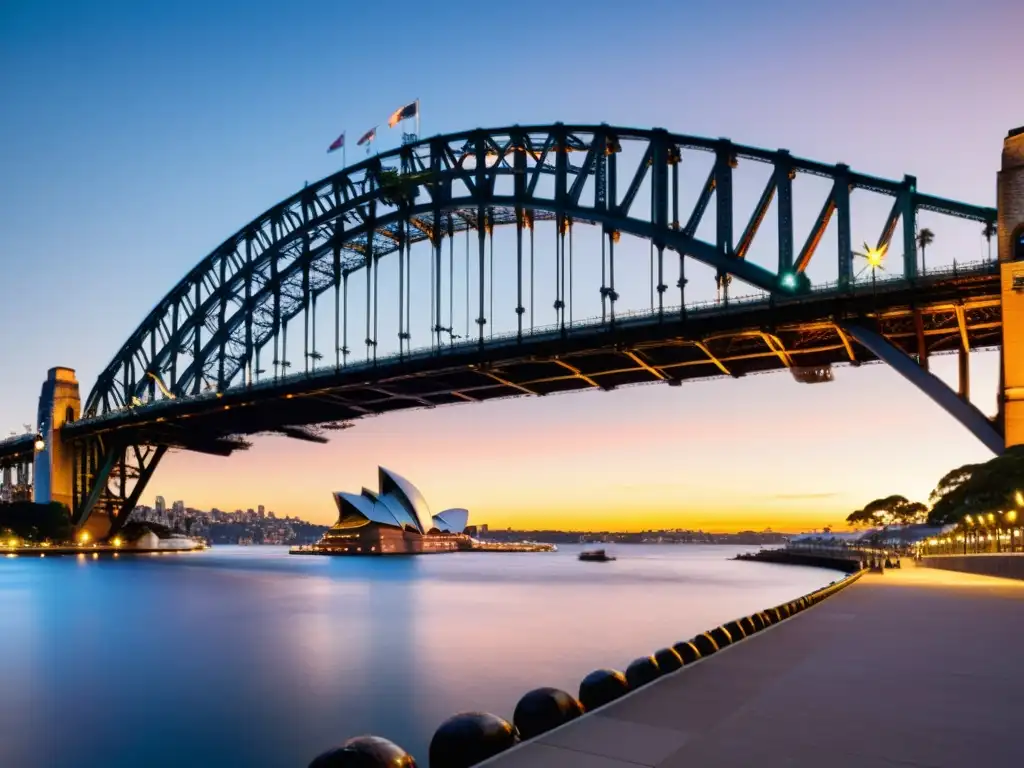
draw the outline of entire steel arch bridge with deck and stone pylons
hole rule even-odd
[[[761,190],[749,201],[744,173]],[[798,224],[804,178],[821,194]],[[261,433],[322,442],[391,411],[639,383],[768,371],[825,383],[833,366],[874,361],[998,453],[1024,441],[1024,129],[1006,139],[998,195],[986,208],[911,176],[663,129],[411,141],[227,238],[84,402],[74,372],[51,370],[37,430],[0,441],[0,467],[102,537],[168,450],[227,456]],[[867,224],[861,210],[882,213]],[[922,270],[922,214],[994,236],[997,258]],[[830,279],[815,283],[822,260]],[[714,300],[692,300],[700,280]],[[626,286],[645,306],[626,308]],[[1002,349],[993,418],[970,401],[983,348]],[[958,355],[956,390],[929,370],[940,353]]]

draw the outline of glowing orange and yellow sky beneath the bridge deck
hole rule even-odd
[[[996,356],[973,357],[972,389],[994,392]],[[955,365],[936,357],[933,370],[952,378]],[[262,504],[332,524],[331,494],[376,486],[383,465],[435,512],[465,507],[493,528],[800,532],[846,529],[850,512],[892,494],[927,501],[949,469],[988,458],[896,373],[865,366],[828,384],[776,374],[518,398],[362,420],[328,445],[266,437],[227,459],[177,453],[143,503]]]

